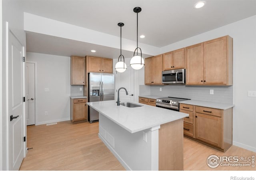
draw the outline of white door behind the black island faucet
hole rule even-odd
[[[131,66],[127,67],[125,72],[118,72],[116,75],[116,100],[117,91],[120,87],[126,88],[128,95],[124,89],[120,90],[119,98],[121,102],[134,102],[134,69]]]

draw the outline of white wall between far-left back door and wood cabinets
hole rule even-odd
[[[38,65],[36,125],[70,120],[70,57],[27,52],[27,60]]]

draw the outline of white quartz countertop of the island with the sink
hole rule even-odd
[[[115,100],[88,102],[87,104],[130,133],[158,127],[161,124],[189,116],[186,113],[141,103],[134,103],[142,105],[136,108],[117,106]]]

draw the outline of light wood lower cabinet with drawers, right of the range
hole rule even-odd
[[[180,112],[189,114],[188,118],[183,118],[184,135],[223,152],[232,146],[232,108],[222,110],[180,104]]]

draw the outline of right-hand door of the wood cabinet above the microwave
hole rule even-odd
[[[185,48],[173,51],[172,69],[185,68]]]

